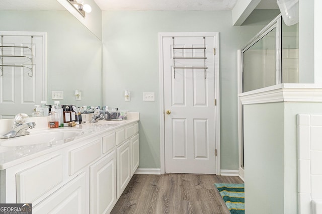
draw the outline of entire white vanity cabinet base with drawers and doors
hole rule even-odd
[[[32,203],[33,213],[109,213],[139,164],[138,123],[0,170],[0,202]]]

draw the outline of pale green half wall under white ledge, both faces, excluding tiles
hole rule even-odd
[[[297,213],[296,117],[321,109],[320,102],[244,105],[247,213]]]

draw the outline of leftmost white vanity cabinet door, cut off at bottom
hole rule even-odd
[[[88,179],[83,172],[32,208],[32,213],[88,213]]]

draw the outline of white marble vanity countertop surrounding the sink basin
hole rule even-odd
[[[54,145],[49,142],[40,143],[40,144],[30,144],[24,146],[0,146],[0,170],[15,166],[17,164],[23,163],[25,161],[31,160],[33,158],[39,157],[41,155],[62,149],[66,146],[77,144],[77,142],[90,139],[94,136],[102,134],[107,131],[111,131],[122,126],[133,124],[139,121],[138,113],[134,115],[137,117],[128,117],[128,120],[123,120],[119,123],[111,123],[109,121],[99,121],[98,123],[85,123],[81,125],[76,125],[75,127],[63,127],[56,129],[43,128],[36,131],[28,130],[30,135],[35,135],[39,132],[48,132],[51,130],[82,130],[84,134],[81,136],[75,137],[74,140],[69,142],[56,142]],[[37,126],[37,124],[36,124]],[[12,139],[20,138],[23,140],[25,136],[16,137]],[[0,139],[0,145],[6,141],[8,143],[12,139]]]

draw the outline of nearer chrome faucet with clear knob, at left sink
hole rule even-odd
[[[14,138],[24,135],[29,135],[28,129],[33,129],[36,126],[35,122],[28,121],[27,114],[18,114],[15,117],[15,123],[12,127],[12,130],[5,135],[0,136],[0,138]]]

